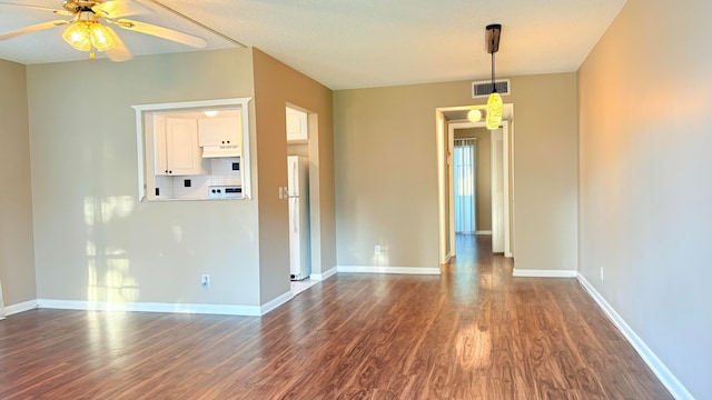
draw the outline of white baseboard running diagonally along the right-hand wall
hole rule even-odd
[[[599,291],[584,278],[577,274],[581,286],[591,294],[593,300],[599,303],[603,312],[609,317],[613,324],[623,333],[625,339],[633,346],[635,351],[641,356],[643,361],[653,370],[653,373],[665,386],[670,393],[678,400],[694,400],[694,397],[685,389],[685,387],[675,378],[675,376],[665,367],[665,364],[655,356],[655,353],[645,344],[633,329],[615,312],[613,307],[599,293]]]

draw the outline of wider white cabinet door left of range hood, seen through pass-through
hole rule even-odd
[[[168,174],[200,174],[197,120],[166,118],[166,163]]]

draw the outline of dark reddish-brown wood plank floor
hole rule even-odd
[[[458,241],[442,277],[344,273],[263,318],[11,316],[0,399],[671,399],[575,280]]]

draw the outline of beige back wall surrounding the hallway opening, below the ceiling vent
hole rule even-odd
[[[511,79],[516,268],[575,270],[576,76]],[[335,91],[338,264],[438,266],[434,111],[484,101],[471,81]]]

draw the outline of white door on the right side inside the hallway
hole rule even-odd
[[[504,134],[492,132],[492,252],[504,252]]]

